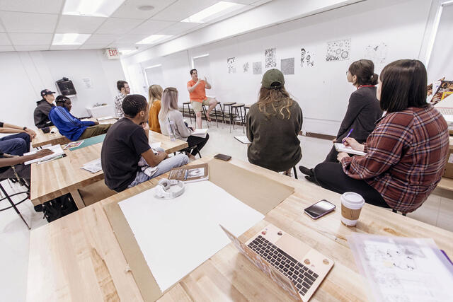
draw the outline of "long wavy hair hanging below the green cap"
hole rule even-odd
[[[258,110],[263,112],[265,117],[271,115],[281,117],[282,120],[291,117],[289,108],[294,104],[294,100],[286,91],[285,86],[280,88],[264,88],[261,87],[258,94]]]

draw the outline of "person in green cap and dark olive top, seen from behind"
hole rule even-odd
[[[263,168],[291,175],[302,158],[300,141],[302,110],[285,90],[285,77],[278,69],[263,75],[258,102],[247,115],[248,161]]]

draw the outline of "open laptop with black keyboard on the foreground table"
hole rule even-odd
[[[309,301],[333,267],[333,260],[273,224],[246,244],[220,227],[242,255],[299,301]]]

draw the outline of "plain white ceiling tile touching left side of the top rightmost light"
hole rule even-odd
[[[168,6],[154,15],[152,20],[181,21],[194,13],[216,4],[218,0],[178,0],[175,4]]]

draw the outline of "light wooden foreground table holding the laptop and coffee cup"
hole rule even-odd
[[[207,162],[203,157],[195,163]],[[366,301],[365,279],[357,271],[346,236],[372,233],[384,236],[434,238],[439,248],[453,255],[453,233],[435,226],[365,204],[357,227],[340,223],[340,194],[309,182],[232,159],[231,163],[295,188],[265,216],[335,265],[311,301]],[[142,301],[103,205],[148,190],[157,179],[120,192],[30,233],[28,301]],[[337,210],[319,220],[303,214],[304,208],[328,199]],[[244,233],[245,242],[263,223]],[[160,301],[290,301],[280,287],[254,267],[232,244],[183,278]]]

